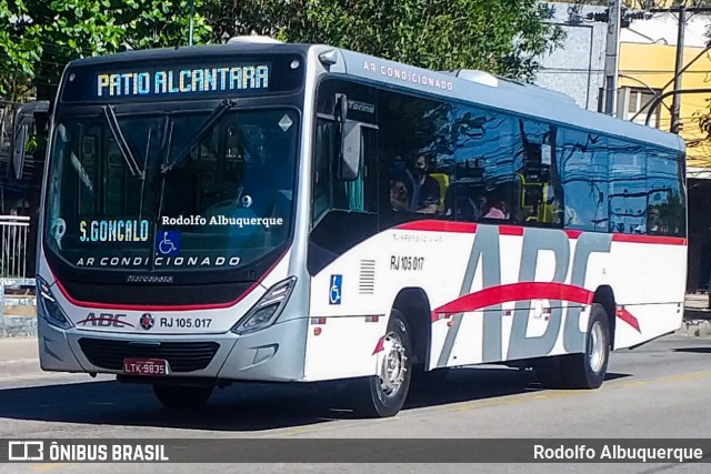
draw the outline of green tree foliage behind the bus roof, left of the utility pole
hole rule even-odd
[[[483,69],[530,80],[560,28],[535,0],[212,1],[213,39],[268,34],[328,43],[429,69]]]

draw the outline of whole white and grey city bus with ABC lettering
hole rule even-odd
[[[47,371],[171,407],[349,380],[391,416],[418,371],[594,389],[681,324],[682,140],[551,91],[234,40],[71,62],[50,134]]]

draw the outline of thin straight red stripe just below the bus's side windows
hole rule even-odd
[[[405,222],[395,226],[401,231],[430,231],[430,232],[452,232],[452,233],[474,233],[477,225],[472,222],[452,222],[452,221],[413,221]],[[495,224],[489,224],[495,225]],[[523,235],[523,226],[520,225],[499,225],[499,235]],[[540,228],[545,229],[545,228]],[[569,239],[575,240],[580,238],[583,231],[565,230]],[[640,234],[620,234],[611,233],[614,242],[632,242],[632,243],[654,243],[662,245],[687,245],[687,239],[662,235],[640,235]]]

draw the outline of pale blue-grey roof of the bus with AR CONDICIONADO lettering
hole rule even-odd
[[[79,59],[71,61],[67,69],[89,64],[109,65],[128,61],[190,60],[210,54],[224,56],[231,52],[306,54],[311,48],[318,48],[321,51],[337,51],[342,59],[342,64],[334,64],[331,69],[333,72],[340,71],[369,81],[472,102],[501,111],[510,111],[568,127],[599,131],[679,151],[683,151],[685,148],[683,139],[679,135],[588,111],[578,107],[572,99],[568,100],[564,94],[543,88],[522,84],[503,78],[485,79],[487,75],[489,78],[493,77],[481,72],[479,73],[481,78],[478,79],[478,71],[464,71],[464,73],[459,74],[460,77],[457,77],[457,72],[431,71],[323,44],[230,42],[227,44],[186,48],[160,48]],[[464,78],[467,75],[469,79]]]

